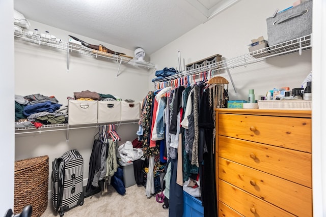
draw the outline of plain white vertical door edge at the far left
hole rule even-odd
[[[3,126],[0,130],[0,186],[2,193],[0,198],[0,216],[14,207],[14,42],[12,37],[13,1],[0,1],[0,26],[3,29],[0,34],[2,49],[0,51],[0,89],[3,96],[3,106],[0,107]]]

